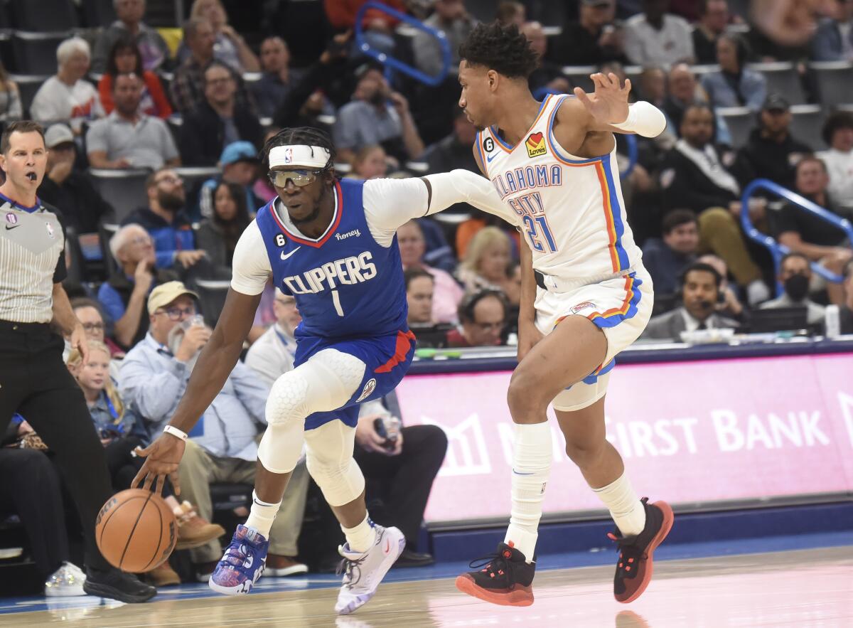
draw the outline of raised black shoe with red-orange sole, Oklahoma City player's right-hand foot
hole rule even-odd
[[[623,537],[622,532],[608,532],[607,536],[619,547],[616,576],[613,578],[613,596],[617,602],[634,602],[646,590],[652,579],[654,549],[670,533],[674,515],[666,502],[648,503],[642,498],[646,509],[646,526],[634,537]]]

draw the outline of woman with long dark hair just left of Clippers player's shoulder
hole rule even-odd
[[[238,183],[221,181],[212,196],[213,215],[201,221],[195,241],[210,259],[214,276],[230,279],[237,240],[252,222],[246,206],[246,189]]]

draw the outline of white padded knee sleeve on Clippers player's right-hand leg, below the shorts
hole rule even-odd
[[[352,458],[355,427],[332,421],[305,433],[308,473],[330,506],[343,506],[364,491],[364,476]]]

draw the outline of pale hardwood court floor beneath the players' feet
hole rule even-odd
[[[453,579],[430,579],[383,584],[367,606],[348,617],[334,615],[337,591],[326,588],[3,614],[0,625],[853,626],[853,546],[658,561],[646,593],[627,606],[613,600],[611,579],[612,567],[542,571],[529,608],[492,606],[459,593]]]

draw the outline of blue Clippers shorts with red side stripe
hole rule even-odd
[[[297,336],[294,366],[305,363],[308,358],[323,349],[335,349],[349,353],[365,363],[361,384],[352,397],[337,410],[315,412],[305,419],[305,429],[316,429],[330,421],[339,420],[350,427],[358,422],[358,406],[392,392],[403,380],[415,357],[415,334],[409,330],[397,334],[371,338],[328,339],[317,336]]]

